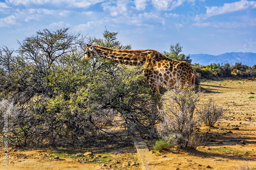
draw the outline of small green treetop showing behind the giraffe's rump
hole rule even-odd
[[[191,64],[192,60],[190,59],[189,55],[185,56],[185,54],[180,54],[182,52],[182,46],[180,43],[176,43],[176,45],[170,45],[169,52],[163,52],[163,55],[167,58],[178,60],[178,61],[186,61]]]

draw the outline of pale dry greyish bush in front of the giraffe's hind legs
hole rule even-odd
[[[190,137],[194,134],[197,121],[192,118],[195,103],[202,93],[196,93],[193,87],[180,86],[163,95],[162,123],[157,126],[160,137],[181,148],[187,148]]]

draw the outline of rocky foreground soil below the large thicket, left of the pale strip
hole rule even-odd
[[[127,153],[118,154],[98,149],[94,152],[61,148],[9,149],[8,166],[3,165],[2,151],[0,169],[141,169],[138,155],[131,149],[128,149]]]

